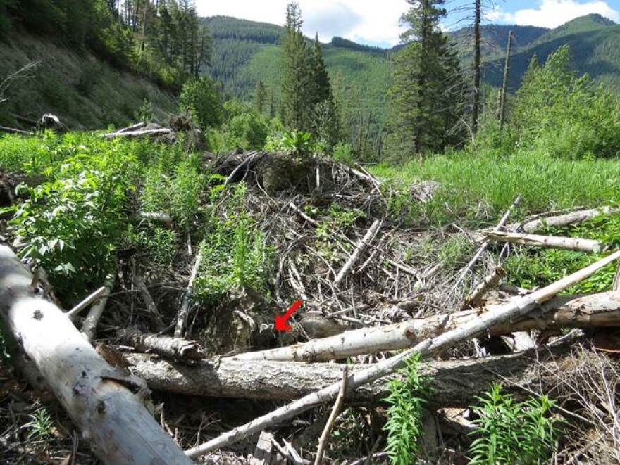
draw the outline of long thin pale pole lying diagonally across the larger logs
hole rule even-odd
[[[376,364],[375,367],[364,369],[359,373],[349,375],[349,390],[354,390],[360,386],[364,386],[365,384],[372,383],[379,378],[383,378],[383,376],[388,376],[395,371],[406,367],[407,360],[411,359],[411,357],[428,357],[438,352],[442,352],[447,348],[476,336],[476,334],[487,331],[492,328],[492,326],[497,326],[500,323],[505,323],[506,321],[511,321],[518,317],[522,317],[531,311],[534,305],[539,305],[542,302],[550,300],[557,293],[564,291],[564,289],[569,288],[589,276],[592,276],[595,272],[615,262],[619,258],[620,251],[612,253],[612,255],[593,263],[593,265],[585,267],[578,272],[570,274],[569,276],[565,276],[545,288],[539,289],[538,291],[528,295],[523,295],[523,297],[517,298],[506,305],[498,306],[493,312],[483,314],[478,319],[474,319],[463,326],[459,326],[452,331],[447,331],[440,336],[423,340],[414,348],[407,350],[406,352],[402,352],[399,355],[395,355],[389,359],[385,359],[383,362]],[[326,386],[325,388],[306,395],[301,399],[295,400],[290,404],[283,405],[271,413],[259,416],[259,418],[254,419],[242,426],[238,426],[232,431],[223,433],[217,438],[204,442],[204,444],[192,447],[192,449],[185,451],[185,454],[194,459],[201,457],[202,455],[208,454],[213,450],[217,450],[221,447],[230,445],[233,442],[247,438],[249,435],[259,433],[265,428],[271,428],[272,426],[286,421],[287,419],[291,419],[302,412],[306,412],[307,410],[316,407],[317,405],[334,400],[339,392],[340,382],[330,384],[330,386]]]

